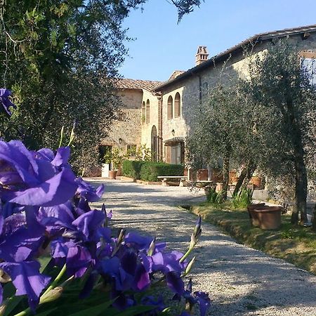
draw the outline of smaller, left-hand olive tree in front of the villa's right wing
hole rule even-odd
[[[232,166],[242,166],[234,194],[249,182],[256,169],[256,159],[251,154],[256,145],[253,126],[251,100],[247,100],[240,79],[218,81],[206,101],[195,106],[187,137],[188,161],[193,165],[201,162],[213,167],[220,165],[224,198]]]

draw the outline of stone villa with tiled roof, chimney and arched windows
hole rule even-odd
[[[282,38],[288,38],[301,48],[301,57],[311,63],[316,79],[316,25],[257,34],[212,58],[205,46],[199,46],[195,67],[175,71],[165,82],[119,80],[117,88],[124,108],[101,145],[126,150],[145,145],[151,149],[155,161],[183,163],[185,138],[190,132],[192,118],[190,109],[206,100],[223,65],[232,75],[244,76],[249,60],[244,52],[260,53]]]

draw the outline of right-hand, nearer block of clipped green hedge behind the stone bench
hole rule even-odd
[[[164,162],[143,162],[140,166],[140,179],[157,181],[157,176],[183,176],[184,166],[181,164],[165,164]]]

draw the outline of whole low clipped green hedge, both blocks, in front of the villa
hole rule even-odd
[[[165,164],[164,162],[136,162],[124,160],[123,174],[129,178],[145,181],[159,181],[157,176],[183,176],[184,166],[181,164]]]

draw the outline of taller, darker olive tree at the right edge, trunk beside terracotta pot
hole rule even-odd
[[[256,105],[261,164],[272,176],[294,178],[294,224],[298,213],[307,222],[307,168],[315,164],[316,93],[302,60],[298,48],[279,41],[251,58],[246,82]]]

